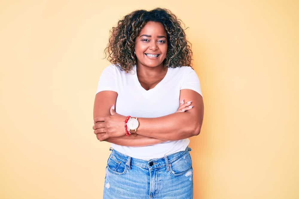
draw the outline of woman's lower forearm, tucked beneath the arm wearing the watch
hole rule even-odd
[[[161,142],[166,142],[167,140],[163,140],[163,139],[158,139],[158,138],[150,138],[147,136],[143,136],[143,135],[136,135],[134,136],[134,134],[129,135],[129,136],[120,136],[120,137],[112,137],[112,138],[108,138],[104,141],[113,143],[113,144],[118,144],[121,146],[149,146],[149,145],[153,145],[153,144],[158,144]]]

